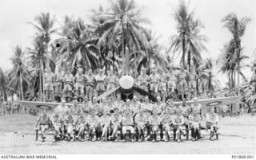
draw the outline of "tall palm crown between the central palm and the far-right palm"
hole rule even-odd
[[[194,11],[189,13],[188,5],[182,1],[178,10],[174,10],[174,18],[178,22],[178,35],[171,37],[171,45],[168,52],[173,49],[173,52],[181,53],[181,64],[185,67],[185,57],[187,54],[187,64],[190,71],[191,62],[193,57],[202,60],[201,52],[207,51],[203,42],[208,41],[208,37],[200,34],[203,28],[201,21],[194,21]]]

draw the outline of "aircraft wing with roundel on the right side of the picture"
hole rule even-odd
[[[242,96],[230,96],[230,97],[221,97],[221,98],[213,98],[213,99],[202,99],[198,100],[199,103],[202,104],[202,107],[220,107],[225,104],[230,103],[239,103]],[[193,103],[193,100],[186,101],[186,104],[190,105]],[[174,105],[178,106],[182,104],[182,102],[174,102]]]

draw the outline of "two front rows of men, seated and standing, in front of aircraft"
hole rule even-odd
[[[162,103],[159,96],[157,99],[158,102],[152,104],[146,96],[144,102],[140,103],[134,96],[133,100],[127,99],[126,102],[116,100],[111,106],[105,98],[102,103],[94,99],[92,103],[81,106],[74,100],[74,106],[70,108],[62,100],[52,116],[46,111],[39,115],[35,129],[39,127],[42,132],[42,141],[46,139],[49,127],[54,128],[55,139],[71,141],[84,141],[86,138],[91,141],[117,141],[119,132],[122,142],[126,142],[128,135],[132,142],[142,142],[146,137],[156,142],[158,135],[165,142],[171,138],[181,142],[182,135],[186,140],[190,139],[189,135],[193,141],[201,139],[202,105],[197,98],[190,106],[183,100],[178,107],[174,106],[173,100]],[[218,115],[214,113],[214,108],[206,114],[206,121],[210,139],[214,140],[214,135],[218,139]]]

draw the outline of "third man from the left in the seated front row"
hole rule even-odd
[[[74,116],[68,111],[68,115],[64,119],[64,128],[66,129],[67,140],[74,141],[74,130],[76,127],[76,120]]]

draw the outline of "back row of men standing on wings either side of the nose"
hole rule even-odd
[[[178,74],[172,70],[167,73],[158,73],[156,69],[153,69],[152,73],[147,75],[146,69],[142,68],[142,74],[135,80],[135,84],[154,96],[162,96],[162,99],[166,100],[167,96],[174,95],[175,89],[181,92],[179,95],[182,92],[185,94],[184,92],[188,89],[193,92],[192,90],[196,88],[194,75],[183,68]],[[44,79],[46,101],[54,101],[54,99],[60,101],[62,96],[66,97],[66,101],[71,101],[74,96],[78,98],[99,96],[118,85],[118,76],[112,71],[106,76],[102,69],[95,75],[91,70],[83,74],[82,68],[78,68],[74,76],[70,69],[63,73],[59,68],[58,72],[53,73],[50,68],[47,68]]]

